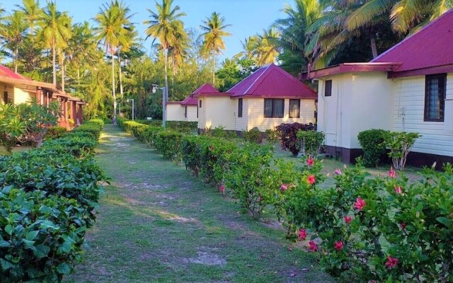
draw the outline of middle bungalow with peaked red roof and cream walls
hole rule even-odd
[[[270,64],[226,92],[206,83],[197,98],[198,129],[224,127],[264,132],[282,123],[314,123],[316,92],[282,68]]]

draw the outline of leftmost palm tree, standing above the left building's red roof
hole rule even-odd
[[[14,71],[17,73],[19,47],[23,38],[25,37],[24,15],[21,11],[14,11],[11,15],[6,16],[6,23],[2,24],[0,28],[1,37],[5,41],[5,47],[11,50],[14,62]]]

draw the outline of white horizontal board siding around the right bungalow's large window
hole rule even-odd
[[[447,76],[447,99],[453,99],[453,74]],[[412,151],[453,156],[453,131],[445,129],[445,122],[423,121],[424,111],[425,76],[395,79],[393,129],[423,135]]]

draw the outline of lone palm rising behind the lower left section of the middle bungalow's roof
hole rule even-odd
[[[231,35],[225,31],[231,25],[225,25],[225,18],[219,13],[212,13],[211,18],[206,18],[203,21],[205,25],[200,25],[200,28],[205,32],[202,36],[205,37],[204,49],[206,52],[212,53],[212,84],[215,83],[215,55],[222,54],[221,50],[225,50],[225,42],[223,37]]]

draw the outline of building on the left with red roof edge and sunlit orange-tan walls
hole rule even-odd
[[[83,122],[82,107],[86,103],[80,98],[74,98],[60,91],[52,83],[33,81],[0,65],[0,90],[3,91],[0,96],[0,104],[28,103],[32,98],[36,98],[40,105],[49,105],[51,101],[58,101],[60,105],[58,125],[60,127],[69,127],[70,119],[76,125]]]

